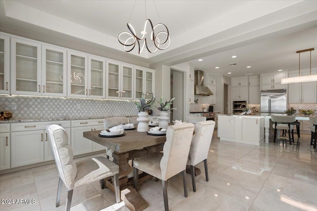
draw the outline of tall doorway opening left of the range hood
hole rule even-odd
[[[171,69],[170,71],[170,98],[175,97],[171,105],[170,119],[184,120],[184,72]]]

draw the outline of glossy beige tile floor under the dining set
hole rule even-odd
[[[279,143],[277,141],[277,143]],[[172,211],[317,211],[317,153],[310,135],[302,134],[299,145],[282,143],[251,146],[219,141],[213,135],[209,158],[210,181],[206,182],[203,163],[197,167],[197,192],[192,191],[187,174],[188,198],[183,196],[182,178],[168,183]],[[34,199],[35,204],[0,204],[1,211],[61,211],[55,208],[58,174],[54,164],[0,175],[0,198]],[[161,183],[148,180],[139,186],[149,203],[146,211],[163,210]],[[74,190],[73,211],[128,211],[115,204],[114,194],[100,189],[99,182]],[[121,203],[122,204],[122,203]],[[113,205],[113,206],[112,206]]]

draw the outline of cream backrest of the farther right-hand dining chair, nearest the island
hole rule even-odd
[[[195,166],[208,158],[215,122],[212,120],[195,124],[195,134],[189,151],[189,165]]]

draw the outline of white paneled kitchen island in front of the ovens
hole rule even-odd
[[[264,142],[264,116],[218,115],[220,141],[260,146]]]

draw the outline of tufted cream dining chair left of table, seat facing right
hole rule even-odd
[[[75,162],[66,130],[58,125],[49,125],[46,129],[59,177],[56,207],[59,207],[63,183],[67,189],[65,210],[69,211],[74,189],[99,180],[104,184],[105,178],[109,176],[114,178],[116,202],[119,203],[119,166],[102,156]]]

